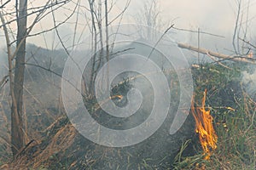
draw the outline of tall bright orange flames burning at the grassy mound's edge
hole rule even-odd
[[[212,126],[213,118],[210,115],[210,111],[206,111],[205,109],[206,98],[207,89],[204,92],[201,107],[196,107],[195,109],[193,101],[191,110],[195,118],[195,132],[199,133],[201,147],[206,154],[205,159],[207,160],[210,158],[212,150],[215,150],[217,148],[218,136]]]

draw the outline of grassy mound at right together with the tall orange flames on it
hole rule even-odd
[[[202,141],[201,147],[198,147],[200,143],[198,138],[184,143],[173,164],[174,169],[255,169],[256,102],[252,99],[252,95],[246,93],[241,83],[241,71],[246,70],[247,65],[230,64],[229,67],[231,69],[228,70],[220,65],[207,64],[192,70],[197,101],[201,99],[202,89],[207,88],[207,111],[205,93],[202,105],[200,107],[192,105],[191,112],[198,120],[205,119],[203,116],[209,116],[211,112],[212,116],[207,119],[210,127],[205,127],[201,121],[196,121],[196,129]],[[211,122],[213,126],[210,125]],[[218,134],[218,141],[212,127]],[[211,133],[206,133],[207,128]],[[210,136],[212,137],[209,139],[204,138]],[[217,141],[217,143],[207,141]],[[193,145],[196,154],[185,155],[189,144]],[[211,156],[206,157],[206,153],[209,152]]]

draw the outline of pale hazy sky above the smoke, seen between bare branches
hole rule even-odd
[[[158,4],[160,5],[160,16],[161,20],[164,22],[173,22],[176,27],[189,29],[189,30],[197,30],[198,28],[201,31],[207,31],[214,34],[222,35],[225,38],[217,38],[217,37],[209,37],[209,36],[201,36],[201,42],[205,43],[207,47],[210,44],[212,46],[224,45],[227,42],[231,44],[231,37],[234,32],[234,25],[236,22],[236,14],[237,14],[237,1],[238,0],[158,0]],[[37,6],[39,4],[43,4],[42,1],[31,1],[33,6]],[[74,1],[75,2],[75,1]],[[111,16],[115,14],[119,14],[119,11],[124,8],[125,0],[118,0],[118,3],[113,8]],[[127,11],[125,12],[123,22],[124,23],[134,23],[134,18],[136,18],[139,14],[138,11],[142,10],[143,3],[150,2],[150,0],[131,0],[131,4]],[[83,5],[87,5],[87,1],[82,1]],[[249,4],[249,10],[247,10],[247,4]],[[14,6],[14,4],[11,4]],[[256,27],[256,0],[242,0],[241,5],[241,16],[242,20],[246,20],[247,11],[248,11],[248,30],[247,30],[247,38],[248,39],[256,39],[255,34],[253,34],[253,28]],[[73,8],[73,5],[70,4],[66,6],[66,8]],[[80,9],[79,14],[79,28],[78,32],[81,33],[85,26],[85,31],[88,31],[88,27],[86,27],[85,22],[85,14],[89,15],[89,12],[84,12],[84,9]],[[65,14],[68,14],[67,9],[58,10],[55,13],[56,20],[63,20]],[[32,20],[32,19],[30,19]],[[75,21],[75,18],[69,20],[69,23],[66,25],[62,25],[59,28],[60,35],[64,41],[71,43],[71,39],[73,37],[74,25],[72,22]],[[52,16],[49,14],[48,18],[45,18],[38,24],[33,32],[41,31],[42,29],[48,29],[53,26]],[[241,31],[245,29],[245,24],[241,27]],[[1,35],[3,35],[3,30],[1,30]],[[181,42],[189,42],[195,43],[196,35],[188,32],[178,32],[179,41]],[[0,37],[3,38],[3,37]],[[56,48],[58,41],[56,40],[55,33],[53,31],[45,33],[44,36],[38,37],[30,37],[28,38],[28,42],[32,42],[41,47],[47,48]],[[3,43],[1,44],[3,46]]]

